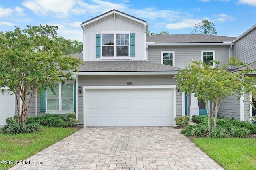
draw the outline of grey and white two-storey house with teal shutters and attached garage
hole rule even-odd
[[[64,85],[56,83],[56,95],[47,90],[36,97],[27,115],[74,112],[84,127],[172,127],[175,117],[206,114],[205,103],[175,90],[174,76],[186,67],[186,62],[195,59],[208,63],[215,59],[224,64],[229,57],[237,55],[250,63],[256,58],[253,57],[256,25],[238,38],[147,36],[146,21],[111,10],[83,22],[81,27],[83,52],[72,56],[81,58],[84,65],[78,68],[79,72],[74,72],[75,81],[67,81]],[[243,45],[249,46],[246,51]],[[6,95],[1,97],[5,100]],[[239,108],[233,107],[232,102],[232,97],[226,99],[224,103],[229,113],[226,114],[226,107],[221,107],[219,114],[231,117],[234,113],[236,119],[249,120],[240,111],[240,108],[245,110],[248,102],[236,103]],[[4,107],[1,101],[1,120],[6,117],[2,116]]]

